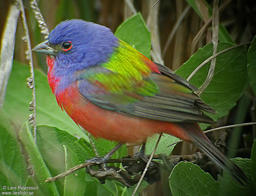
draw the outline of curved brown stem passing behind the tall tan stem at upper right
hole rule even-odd
[[[231,2],[232,0],[226,0],[219,8],[219,13],[221,13],[224,8]],[[205,30],[209,27],[209,25],[211,24],[212,21],[212,16],[211,18],[204,24],[204,26],[200,29],[200,31],[198,31],[198,33],[196,34],[196,36],[194,37],[192,43],[191,43],[191,52],[190,55],[192,56],[196,50],[196,44],[199,41],[199,39],[202,37],[202,35],[204,34]]]

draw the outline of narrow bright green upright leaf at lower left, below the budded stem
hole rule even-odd
[[[30,157],[30,163],[33,166],[37,184],[45,192],[45,195],[59,195],[54,182],[45,182],[46,178],[51,177],[51,174],[46,167],[43,157],[37,148],[34,138],[31,134],[28,123],[25,123],[20,130],[20,140],[25,145],[25,149]]]

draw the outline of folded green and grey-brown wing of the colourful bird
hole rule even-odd
[[[216,113],[193,91],[196,87],[157,64],[159,73],[140,79],[101,66],[81,73],[78,88],[95,105],[126,115],[168,122],[206,122],[213,120],[202,111]]]

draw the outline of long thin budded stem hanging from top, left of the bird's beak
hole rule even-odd
[[[27,79],[27,85],[29,89],[32,89],[32,102],[30,102],[30,111],[33,111],[33,114],[29,115],[29,123],[33,127],[33,135],[34,141],[36,143],[36,89],[35,89],[35,75],[34,75],[34,67],[33,67],[33,59],[32,59],[32,52],[31,52],[31,44],[28,34],[28,25],[26,21],[24,6],[22,0],[17,0],[17,6],[21,11],[21,18],[22,18],[22,25],[25,31],[25,36],[22,38],[24,42],[27,44],[27,50],[25,51],[26,59],[29,61],[30,67],[30,77]]]

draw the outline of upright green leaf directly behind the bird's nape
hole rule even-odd
[[[116,37],[134,45],[141,54],[150,59],[151,36],[140,13],[125,20],[116,30]]]

